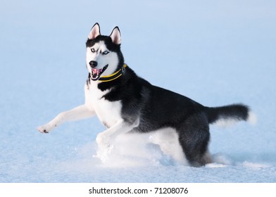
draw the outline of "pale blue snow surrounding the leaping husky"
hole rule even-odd
[[[1,1],[0,182],[276,182],[275,1]],[[84,102],[85,40],[118,25],[125,62],[206,106],[246,103],[256,125],[211,126],[215,163],[180,165],[149,136],[104,163],[96,117],[36,131]]]

